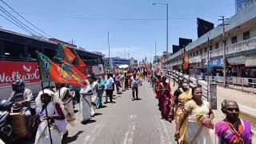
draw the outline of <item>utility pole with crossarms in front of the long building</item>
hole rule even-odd
[[[224,76],[224,87],[226,88],[226,38],[225,38],[225,26],[228,25],[225,23],[225,20],[228,18],[225,18],[224,16],[220,16],[221,19],[218,19],[218,21],[222,21],[222,43],[223,43],[223,76]]]

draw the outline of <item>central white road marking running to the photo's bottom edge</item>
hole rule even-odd
[[[135,118],[137,115],[130,115],[130,122],[128,130],[126,131],[125,137],[122,144],[132,144],[134,139],[134,130],[135,130]]]

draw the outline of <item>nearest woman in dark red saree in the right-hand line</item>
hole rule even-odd
[[[166,80],[166,76],[163,76],[162,82],[159,84],[160,110],[162,119],[171,122],[174,120],[174,110],[171,107],[172,95],[170,94],[170,84]]]

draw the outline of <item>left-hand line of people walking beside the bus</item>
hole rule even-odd
[[[36,107],[42,122],[38,126],[35,143],[50,142],[51,138],[54,144],[58,144],[66,138],[67,125],[74,126],[73,100],[76,95],[79,97],[75,99],[79,102],[81,122],[93,118],[97,109],[102,108],[107,102],[114,102],[115,89],[117,94],[131,89],[132,100],[138,100],[138,86],[142,85],[142,74],[140,69],[115,70],[114,74],[105,76],[88,74],[84,87],[77,88],[78,90],[70,90],[65,84],[55,83],[54,89],[40,91],[36,98]],[[106,92],[105,101],[103,100],[104,91]],[[47,129],[48,122],[50,130]]]

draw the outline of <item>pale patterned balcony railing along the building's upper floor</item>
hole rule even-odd
[[[229,46],[226,46],[226,54],[235,54],[248,50],[256,50],[256,38],[250,38],[242,42],[238,42]],[[223,48],[210,51],[210,58],[223,55]],[[207,52],[202,54],[202,59],[207,58]]]

